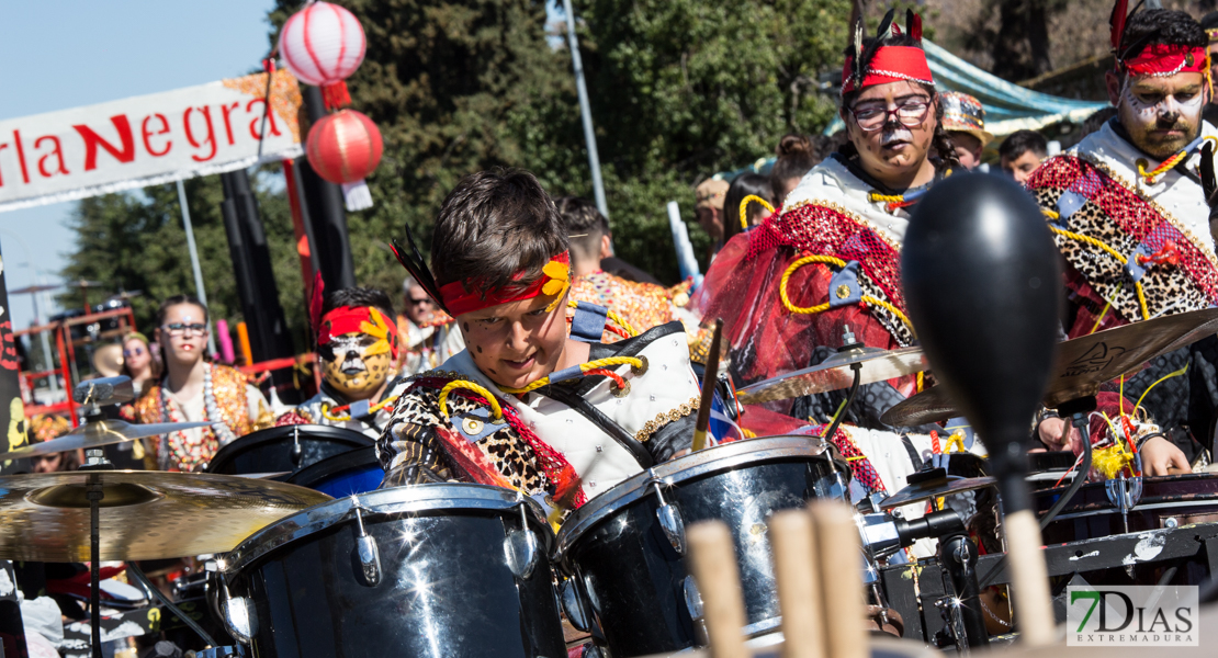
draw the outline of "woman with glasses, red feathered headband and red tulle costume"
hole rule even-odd
[[[847,51],[840,116],[849,142],[804,176],[781,214],[723,247],[694,299],[704,317],[723,319],[745,383],[818,365],[844,343],[914,342],[901,241],[912,206],[959,162],[940,125],[921,19],[909,12],[901,30],[892,16],[876,39]],[[918,386],[914,376],[864,386],[843,411],[847,424],[832,440],[851,459],[855,500],[895,493],[931,452],[928,434],[915,444],[879,421]],[[758,434],[783,433],[790,428],[769,411],[828,423],[843,403],[844,392],[803,397],[742,421]]]

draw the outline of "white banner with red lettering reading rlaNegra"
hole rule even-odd
[[[2,120],[0,212],[296,158],[296,79],[275,72],[270,112],[266,91],[258,73]]]

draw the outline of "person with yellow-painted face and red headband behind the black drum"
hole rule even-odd
[[[315,322],[322,389],[275,424],[326,424],[378,438],[406,379],[392,379],[398,332],[389,296],[373,288],[325,294]]]

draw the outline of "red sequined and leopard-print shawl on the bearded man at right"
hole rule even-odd
[[[1141,286],[1151,317],[1205,309],[1213,303],[1212,266],[1206,259],[1192,254],[1191,252],[1197,251],[1196,247],[1134,192],[1078,158],[1055,158],[1041,169],[1046,170],[1038,170],[1028,184],[1041,208],[1054,212],[1062,209],[1062,197],[1067,192],[1072,192],[1074,199],[1085,199],[1068,216],[1056,221],[1049,219],[1050,226],[1099,240],[1127,259],[1139,244],[1149,253],[1156,252],[1167,242],[1180,249],[1183,261],[1178,265],[1145,265]],[[1112,302],[1122,319],[1145,319],[1125,266],[1112,254],[1096,244],[1060,232],[1054,232],[1054,241],[1066,261],[1095,292]]]

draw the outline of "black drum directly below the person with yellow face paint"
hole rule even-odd
[[[207,465],[207,472],[224,476],[295,473],[322,460],[373,444],[373,439],[342,427],[270,427],[220,448]]]

